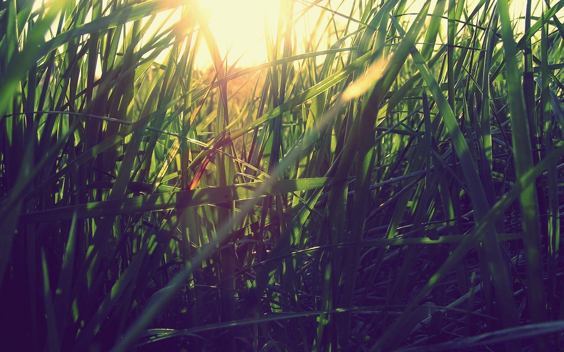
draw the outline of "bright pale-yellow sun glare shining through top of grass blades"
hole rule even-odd
[[[210,30],[227,64],[250,66],[267,59],[266,28],[275,28],[280,0],[200,0]]]

